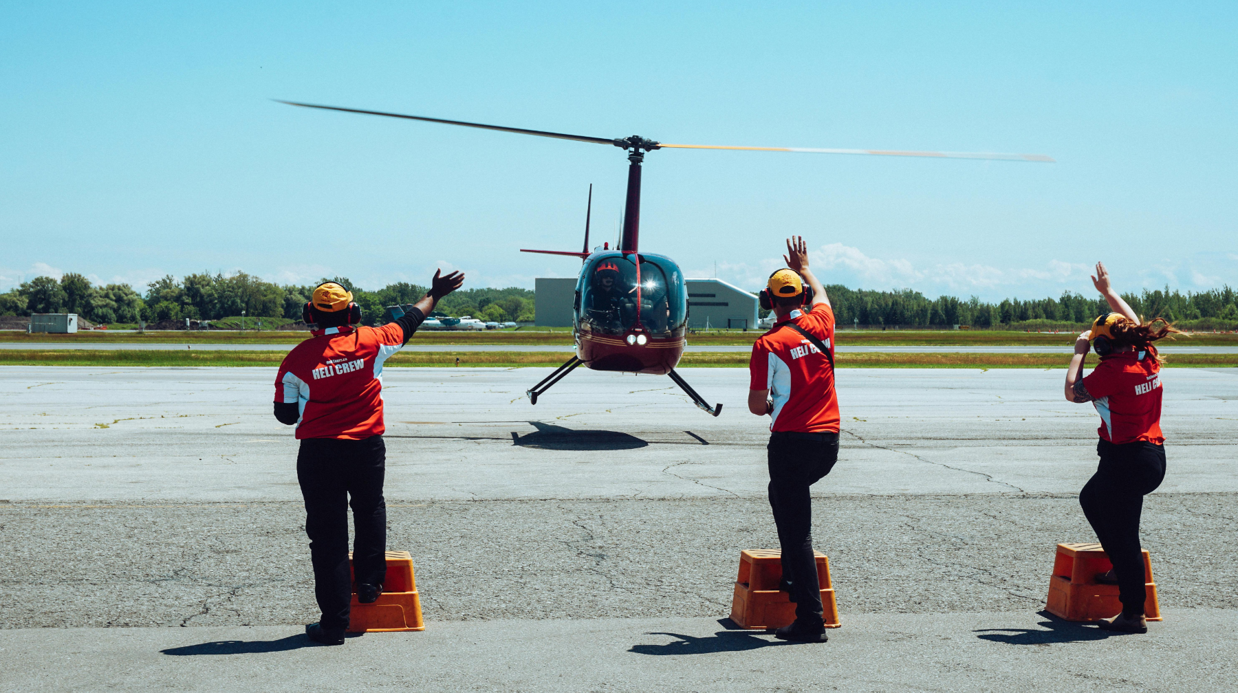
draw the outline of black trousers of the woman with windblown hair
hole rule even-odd
[[[1165,446],[1141,441],[1115,446],[1102,438],[1096,452],[1101,465],[1080,491],[1080,505],[1113,563],[1122,613],[1141,615],[1148,578],[1139,544],[1139,515],[1144,495],[1165,479]]]

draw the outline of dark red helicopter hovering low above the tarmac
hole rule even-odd
[[[537,397],[567,374],[572,372],[577,366],[584,365],[593,370],[667,375],[697,407],[713,416],[722,413],[721,403],[709,406],[675,371],[675,366],[678,365],[686,346],[685,334],[687,333],[688,317],[687,285],[685,283],[683,272],[673,260],[665,255],[640,251],[640,174],[646,152],[664,148],[740,150],[1054,162],[1049,156],[1035,153],[672,145],[647,140],[640,135],[631,135],[629,137],[589,137],[584,135],[567,135],[563,132],[300,101],[280,103],[302,108],[402,118],[406,120],[536,135],[539,137],[573,140],[577,142],[614,146],[628,152],[628,192],[624,200],[621,233],[615,248],[610,248],[609,243],[604,243],[600,248],[589,250],[589,215],[593,207],[593,186],[589,186],[589,202],[584,223],[584,246],[579,251],[520,250],[521,252],[567,255],[579,257],[583,262],[572,302],[572,333],[576,340],[576,354],[525,392],[529,402],[532,405],[536,405]]]

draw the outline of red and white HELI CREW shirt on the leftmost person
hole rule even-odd
[[[275,377],[275,401],[297,402],[297,439],[381,436],[383,363],[404,346],[404,328],[333,327],[297,344]]]

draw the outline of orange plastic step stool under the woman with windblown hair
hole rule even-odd
[[[1049,578],[1049,605],[1045,609],[1067,621],[1097,621],[1122,611],[1118,585],[1097,584],[1096,575],[1113,568],[1098,543],[1060,543],[1054,558],[1054,574]],[[1148,579],[1148,600],[1144,618],[1160,621],[1153,563],[1144,549],[1144,575]]]

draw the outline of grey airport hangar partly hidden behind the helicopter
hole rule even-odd
[[[722,280],[685,278],[688,288],[688,327],[692,329],[756,329],[756,296]],[[576,278],[537,277],[534,308],[537,327],[572,327]]]

